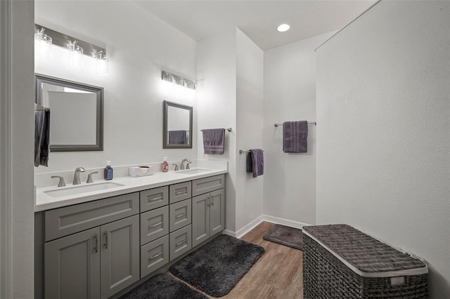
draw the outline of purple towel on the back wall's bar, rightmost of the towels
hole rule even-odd
[[[283,123],[283,152],[308,152],[308,121]]]

